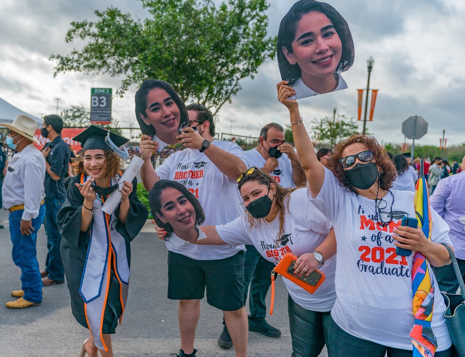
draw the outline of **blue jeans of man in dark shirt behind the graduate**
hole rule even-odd
[[[45,213],[45,231],[47,232],[48,248],[45,270],[48,271],[48,278],[56,282],[64,279],[62,256],[60,255],[62,235],[57,226],[57,215],[62,205],[63,201],[57,199],[45,203],[47,209]]]

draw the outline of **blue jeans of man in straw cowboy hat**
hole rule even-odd
[[[32,219],[34,231],[29,236],[23,236],[20,230],[21,216],[24,209],[10,212],[10,238],[13,243],[13,262],[21,269],[21,283],[24,299],[29,302],[42,302],[42,280],[40,279],[39,263],[37,262],[37,232],[44,221],[45,205],[41,205],[39,215]]]

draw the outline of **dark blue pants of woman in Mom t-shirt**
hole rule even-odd
[[[329,324],[328,355],[331,357],[412,357],[412,350],[387,347],[382,344],[352,336],[331,319]],[[436,352],[434,357],[453,357],[454,347]]]

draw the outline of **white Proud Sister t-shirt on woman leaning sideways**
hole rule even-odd
[[[287,206],[287,200],[288,198],[284,201],[284,207]],[[255,222],[257,224],[250,227],[247,214],[244,213],[233,222],[216,228],[218,235],[226,243],[253,244],[263,258],[275,264],[278,264],[287,252],[295,256],[312,253],[331,229],[331,223],[308,200],[305,188],[291,193],[289,214],[285,215],[284,233],[279,243],[276,243],[279,233],[279,217],[271,223],[264,218],[255,220]],[[336,299],[334,289],[336,257],[333,256],[326,260],[320,268],[325,273],[325,281],[313,294],[284,277],[282,280],[289,295],[297,304],[307,310],[326,312],[331,311]]]

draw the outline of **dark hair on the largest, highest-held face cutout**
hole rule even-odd
[[[290,86],[294,85],[295,81],[302,76],[302,73],[298,64],[291,65],[288,62],[286,56],[284,56],[282,52],[282,47],[285,47],[288,52],[293,53],[292,43],[295,38],[295,31],[297,30],[298,23],[303,15],[312,11],[326,15],[333,23],[334,30],[336,30],[341,39],[342,54],[336,72],[347,71],[354,63],[354,41],[352,40],[349,25],[347,25],[347,21],[344,20],[341,14],[339,14],[334,7],[325,2],[315,0],[297,1],[281,20],[278,42],[276,45],[281,78],[289,81]]]

